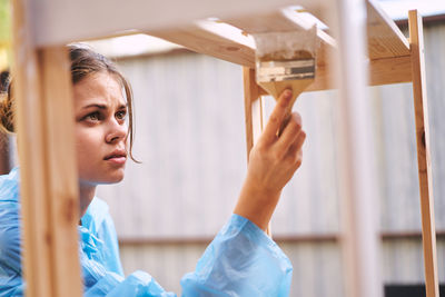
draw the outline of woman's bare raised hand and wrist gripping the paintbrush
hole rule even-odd
[[[258,142],[249,155],[247,177],[234,212],[243,216],[263,230],[274,214],[284,186],[301,165],[301,146],[306,133],[301,130],[301,117],[297,112],[286,115],[291,91],[285,90]],[[283,133],[278,130],[288,120]]]

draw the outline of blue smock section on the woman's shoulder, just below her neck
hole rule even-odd
[[[80,263],[85,297],[174,297],[147,273],[136,271],[123,278],[112,218],[105,201],[95,198],[82,217]]]

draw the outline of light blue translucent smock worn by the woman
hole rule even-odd
[[[19,170],[0,176],[0,296],[22,296],[20,263]],[[112,219],[95,197],[81,218],[79,256],[83,296],[176,296],[149,274],[123,276]],[[255,224],[233,215],[199,259],[182,277],[184,297],[288,296],[291,265],[279,247]]]

